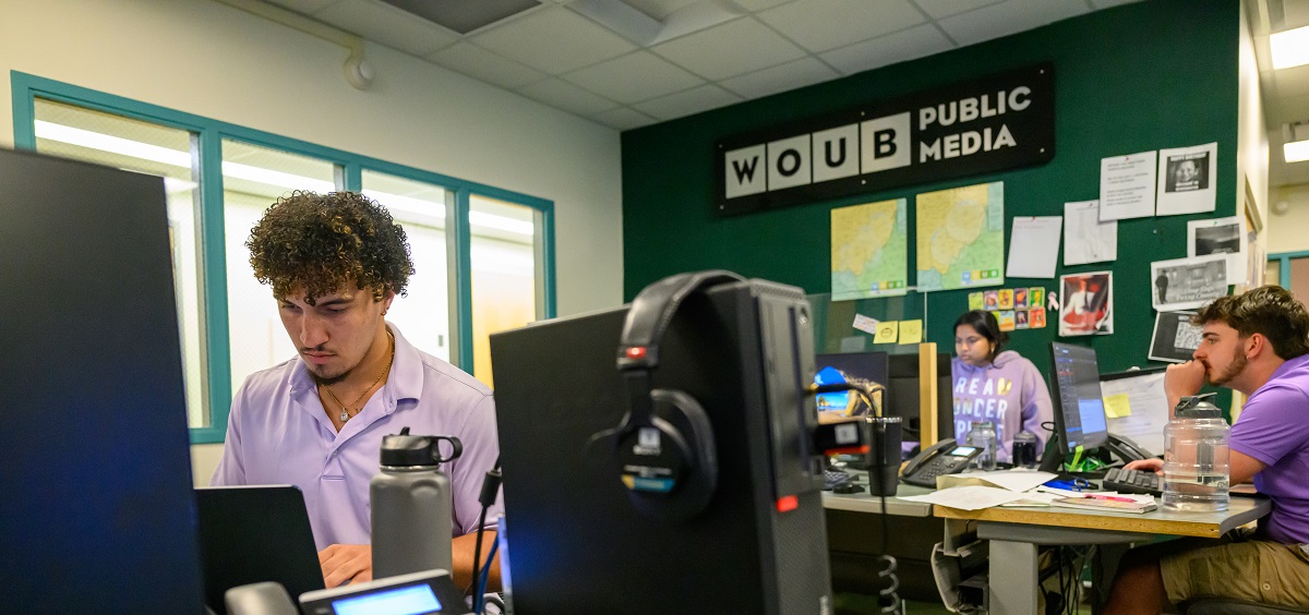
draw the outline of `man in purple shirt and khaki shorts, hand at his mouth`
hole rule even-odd
[[[1220,297],[1192,318],[1195,360],[1164,376],[1169,407],[1207,382],[1244,393],[1232,425],[1232,484],[1254,480],[1272,514],[1253,536],[1164,543],[1119,564],[1105,612],[1164,612],[1200,597],[1309,605],[1309,313],[1285,289]],[[1127,467],[1161,471],[1161,459]]]

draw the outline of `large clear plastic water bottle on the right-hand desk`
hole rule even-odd
[[[1228,424],[1208,395],[1185,396],[1164,428],[1164,506],[1227,510],[1230,483]]]

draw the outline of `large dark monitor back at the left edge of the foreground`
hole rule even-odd
[[[202,612],[164,182],[0,150],[0,599]]]

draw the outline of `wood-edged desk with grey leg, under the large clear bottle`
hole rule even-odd
[[[1272,502],[1264,497],[1233,497],[1221,513],[1177,513],[1160,508],[1134,514],[1058,506],[982,510],[935,506],[933,513],[946,519],[974,521],[978,538],[991,540],[990,612],[1034,615],[1038,546],[1130,543],[1156,534],[1219,538],[1271,510]]]

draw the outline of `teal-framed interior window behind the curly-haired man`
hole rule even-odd
[[[17,71],[10,82],[17,148],[164,178],[192,444],[221,442],[233,390],[295,356],[245,254],[250,225],[291,190],[390,209],[418,272],[387,319],[488,385],[486,338],[555,315],[550,200]]]

